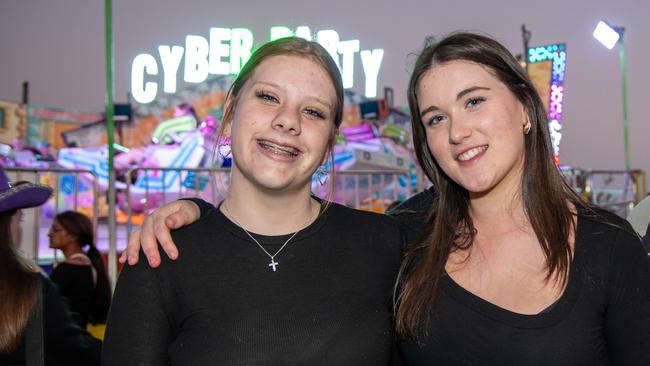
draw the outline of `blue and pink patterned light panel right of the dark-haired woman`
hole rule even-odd
[[[566,72],[566,45],[553,44],[528,49],[528,62],[552,61],[551,89],[548,104],[548,129],[553,145],[553,159],[560,164],[562,140],[562,106],[564,104],[564,76]]]

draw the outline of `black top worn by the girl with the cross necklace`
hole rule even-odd
[[[270,253],[289,238],[254,237]],[[220,210],[172,234],[157,269],[125,267],[103,364],[387,365],[402,241],[389,217],[336,204],[269,257]]]

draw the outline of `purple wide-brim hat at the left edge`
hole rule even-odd
[[[52,196],[52,188],[34,183],[12,187],[4,170],[0,169],[0,212],[40,206]]]

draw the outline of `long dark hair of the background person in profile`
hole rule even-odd
[[[97,283],[93,293],[93,308],[89,321],[92,324],[105,323],[111,303],[111,286],[104,260],[94,242],[93,223],[88,216],[76,211],[64,211],[54,217],[66,232],[77,238],[81,248],[88,247],[86,255],[97,273]]]

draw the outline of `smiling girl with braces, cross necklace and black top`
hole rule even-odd
[[[336,63],[316,42],[269,42],[225,106],[228,195],[173,233],[187,248],[181,259],[124,267],[103,364],[393,362],[399,226],[311,195],[318,167],[333,166],[342,121]]]

